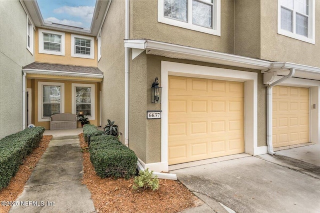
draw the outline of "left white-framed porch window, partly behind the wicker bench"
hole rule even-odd
[[[64,83],[38,82],[38,121],[64,113]]]

